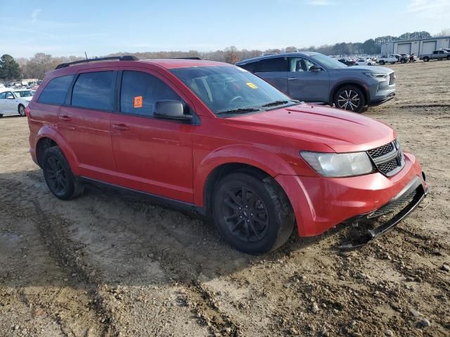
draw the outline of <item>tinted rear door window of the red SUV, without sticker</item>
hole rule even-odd
[[[72,106],[86,109],[114,109],[115,72],[79,74],[72,91]]]

